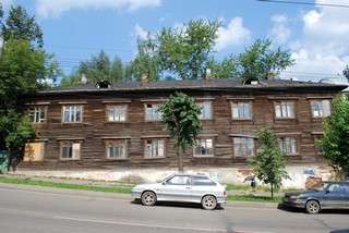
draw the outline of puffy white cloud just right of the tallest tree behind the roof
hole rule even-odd
[[[241,17],[234,17],[230,21],[227,27],[218,29],[218,39],[215,46],[217,51],[226,49],[230,46],[240,45],[241,42],[250,39],[251,32],[243,27]]]

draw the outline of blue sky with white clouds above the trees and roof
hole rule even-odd
[[[280,0],[284,1],[284,0]],[[286,1],[286,0],[285,0]],[[256,0],[2,0],[24,7],[44,32],[45,50],[69,73],[101,49],[127,63],[134,59],[137,36],[190,20],[221,20],[217,58],[238,54],[256,38],[290,50],[297,65],[282,78],[317,82],[341,76],[349,64],[348,0],[298,0],[291,4]],[[290,1],[288,1],[290,2]],[[296,2],[296,1],[294,1]]]

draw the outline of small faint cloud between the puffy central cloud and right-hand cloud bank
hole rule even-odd
[[[291,36],[291,29],[288,28],[288,17],[284,14],[277,14],[272,17],[274,27],[270,30],[269,37],[274,38],[277,44],[285,44]]]

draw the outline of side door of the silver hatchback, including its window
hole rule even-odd
[[[167,201],[190,201],[191,185],[190,175],[173,175],[163,182],[158,191],[158,199]]]

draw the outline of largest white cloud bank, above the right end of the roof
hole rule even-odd
[[[326,0],[316,3],[329,3]],[[332,4],[346,4],[346,0],[332,0]],[[348,9],[318,7],[303,15],[302,37],[292,41],[292,58],[297,65],[284,76],[320,81],[341,74],[349,63]]]

